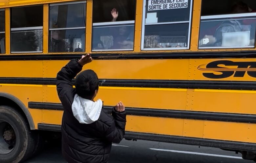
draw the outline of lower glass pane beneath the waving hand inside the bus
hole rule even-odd
[[[93,50],[132,50],[134,25],[93,28]]]

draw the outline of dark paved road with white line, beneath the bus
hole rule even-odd
[[[47,147],[25,163],[66,163],[60,145]],[[122,140],[114,144],[110,163],[253,163],[240,154],[215,148],[196,147],[151,141]]]

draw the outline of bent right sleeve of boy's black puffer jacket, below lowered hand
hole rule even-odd
[[[126,112],[112,111],[113,122],[106,132],[106,139],[113,143],[120,143],[125,134]]]

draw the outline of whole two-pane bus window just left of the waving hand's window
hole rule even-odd
[[[84,52],[85,16],[85,1],[52,4],[49,52]]]

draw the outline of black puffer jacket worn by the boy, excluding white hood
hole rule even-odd
[[[80,124],[72,113],[75,89],[71,83],[82,70],[78,60],[71,60],[57,74],[57,92],[63,105],[62,154],[69,163],[106,163],[112,142],[124,136],[126,113],[108,114],[103,108],[99,119],[91,124]]]

